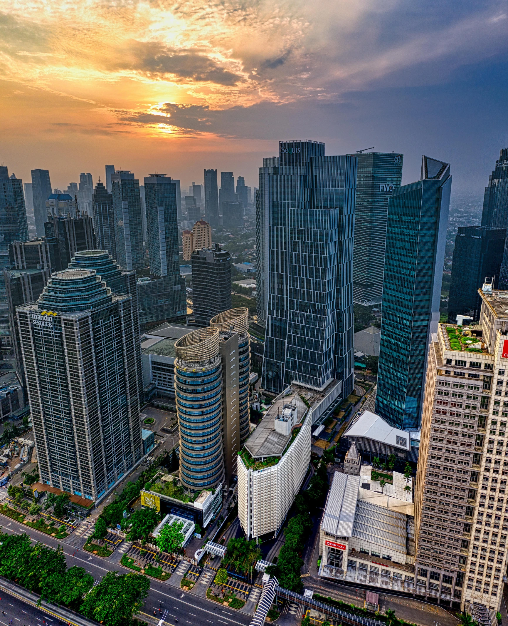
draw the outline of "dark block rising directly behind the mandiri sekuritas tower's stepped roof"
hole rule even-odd
[[[86,213],[80,217],[53,217],[44,223],[44,232],[46,240],[58,242],[57,264],[62,269],[69,265],[76,252],[96,248],[92,218]]]

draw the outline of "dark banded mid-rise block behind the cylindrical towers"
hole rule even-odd
[[[231,309],[231,257],[218,244],[209,250],[195,250],[192,264],[192,302],[197,326]]]

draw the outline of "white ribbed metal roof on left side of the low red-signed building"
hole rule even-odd
[[[321,525],[325,532],[340,537],[352,536],[359,486],[360,476],[335,472]]]

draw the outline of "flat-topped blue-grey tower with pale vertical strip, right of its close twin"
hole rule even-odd
[[[146,227],[150,270],[171,276],[180,287],[176,185],[165,174],[145,177]]]

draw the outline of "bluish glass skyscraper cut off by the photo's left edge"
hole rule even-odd
[[[28,222],[23,195],[23,181],[0,166],[0,270],[9,267],[9,244],[28,241]],[[7,304],[5,282],[0,274],[0,304]]]

